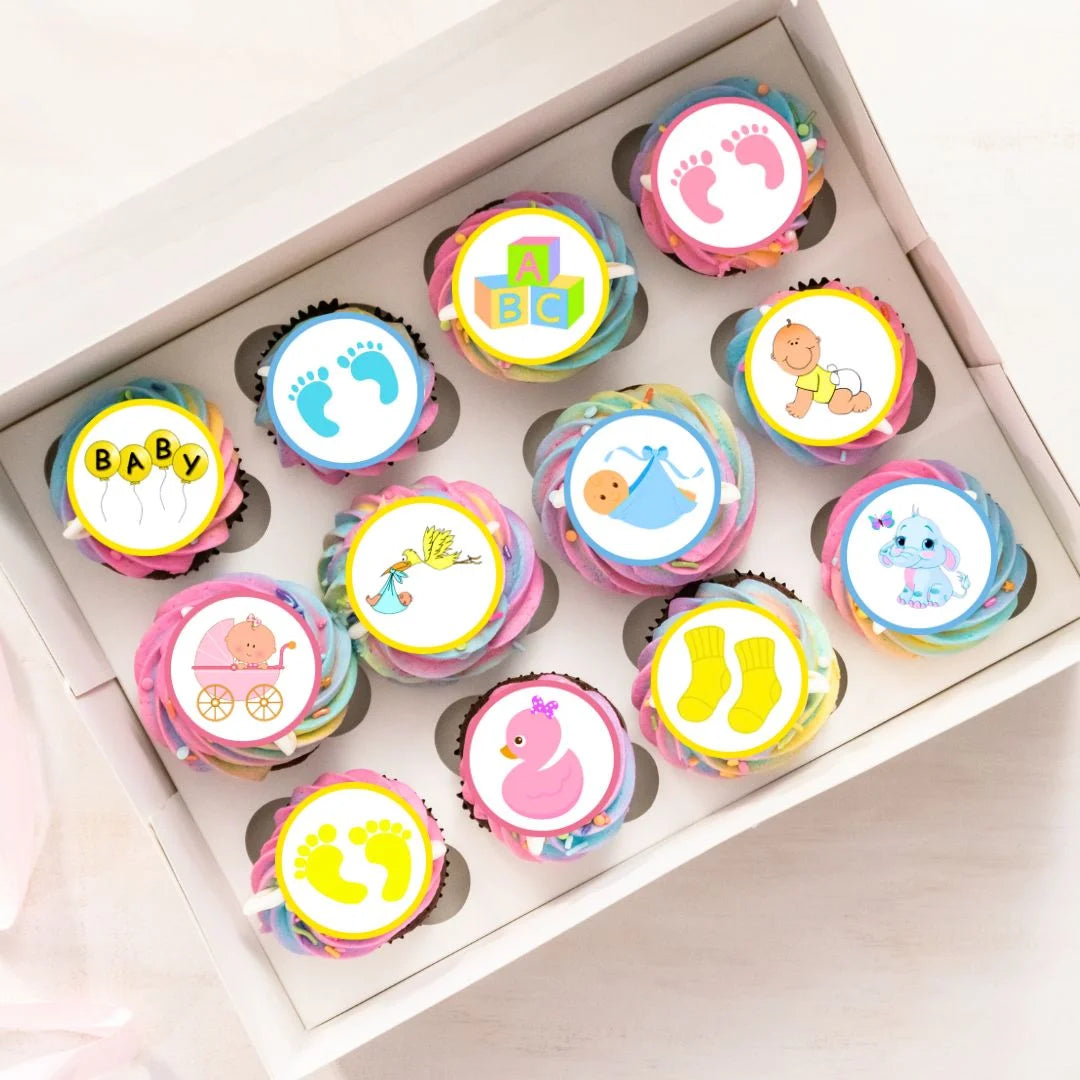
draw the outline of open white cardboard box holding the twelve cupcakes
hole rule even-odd
[[[720,46],[723,55],[712,56]],[[777,270],[724,282],[694,279],[649,248],[633,207],[613,186],[610,154],[621,134],[683,90],[743,72],[820,108],[833,140],[826,175],[837,193],[837,222],[816,248]],[[653,85],[658,81],[663,84]],[[707,363],[703,334],[798,278],[840,274],[873,284],[895,303],[937,386],[931,418],[878,460],[940,455],[978,473],[1054,589],[1037,590],[1024,616],[977,649],[919,664],[913,686],[910,669],[876,656],[824,609],[814,588],[805,530],[852,474],[798,471],[793,477],[794,467],[754,440],[761,511],[747,568],[784,578],[818,607],[850,673],[843,706],[792,771],[743,786],[683,775],[661,761],[652,808],[610,850],[569,867],[517,865],[476,829],[455,806],[453,777],[430,740],[431,720],[447,702],[517,671],[570,670],[608,692],[636,730],[627,707],[633,669],[619,645],[632,602],[575,588],[542,543],[563,589],[562,622],[529,639],[518,666],[456,688],[409,690],[380,681],[360,728],[264,785],[163,766],[125,691],[134,640],[148,612],[178,585],[118,582],[57,539],[43,504],[41,458],[72,396],[129,362],[138,373],[185,370],[221,404],[245,467],[271,490],[271,502],[302,500],[311,517],[321,514],[328,524],[348,492],[276,467],[269,441],[255,435],[231,360],[247,333],[287,319],[301,303],[333,295],[375,300],[420,324],[462,399],[455,436],[421,456],[408,475],[429,469],[470,475],[532,521],[519,436],[512,454],[481,461],[482,446],[471,434],[473,410],[494,402],[499,388],[438,340],[419,272],[423,249],[442,227],[530,185],[579,191],[621,221],[652,310],[643,337],[597,369],[557,387],[514,388],[509,406],[503,395],[508,429],[524,432],[530,419],[606,384],[656,378],[658,356],[684,375],[673,381],[715,392],[730,406]],[[683,310],[664,302],[675,288]],[[812,0],[797,6],[764,0],[497,4],[32,257],[10,281],[0,279],[0,297],[10,357],[18,357],[0,372],[0,423],[8,426],[0,432],[0,566],[161,845],[275,1076],[298,1076],[339,1056],[727,837],[1080,656],[1080,508],[926,237]],[[792,522],[799,532],[794,544],[785,534]],[[271,523],[251,552],[222,555],[200,577],[251,568],[310,578],[321,532]],[[590,638],[559,630],[573,623],[599,624],[612,654],[583,664]],[[401,729],[388,723],[405,703],[421,714],[410,733],[423,737],[407,750]],[[243,829],[253,810],[294,784],[327,768],[361,765],[396,772],[432,801],[470,867],[469,900],[449,920],[362,961],[320,964],[287,956],[240,914]]]

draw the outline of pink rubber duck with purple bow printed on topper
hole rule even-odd
[[[585,777],[573,751],[555,758],[563,728],[555,718],[557,701],[534,696],[531,707],[515,713],[507,725],[504,757],[521,761],[502,782],[502,797],[515,813],[535,821],[561,818],[573,809]],[[554,758],[554,760],[553,760]]]

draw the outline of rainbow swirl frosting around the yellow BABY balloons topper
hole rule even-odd
[[[127,578],[175,578],[202,566],[225,543],[230,526],[240,517],[244,501],[240,455],[232,442],[232,434],[226,428],[218,407],[206,401],[194,387],[157,378],[132,379],[87,401],[71,418],[57,444],[56,456],[49,471],[49,497],[57,518],[65,526],[69,525],[76,515],[68,497],[68,459],[79,434],[98,413],[109,406],[140,400],[177,405],[206,426],[211,436],[217,442],[225,463],[225,495],[202,534],[178,551],[165,555],[126,555],[86,535],[78,537],[75,543],[87,558]]]

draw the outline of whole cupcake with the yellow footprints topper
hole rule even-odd
[[[432,913],[446,845],[411,787],[369,769],[321,775],[274,814],[244,905],[292,953],[364,956]]]

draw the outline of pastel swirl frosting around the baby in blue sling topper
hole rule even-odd
[[[562,492],[575,448],[594,424],[631,409],[656,409],[692,428],[712,446],[726,484],[739,499],[721,505],[708,531],[680,557],[657,566],[615,562],[586,544],[572,528]],[[730,566],[750,538],[757,509],[754,458],[746,437],[719,403],[707,394],[688,394],[678,387],[650,383],[593,394],[559,414],[537,449],[532,507],[548,539],[586,581],[619,593],[662,596],[687,582],[707,578]]]

